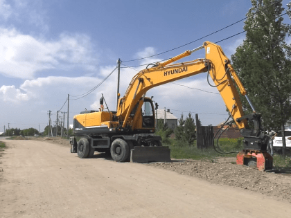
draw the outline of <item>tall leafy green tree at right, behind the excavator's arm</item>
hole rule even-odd
[[[231,59],[256,110],[263,113],[265,128],[284,132],[291,116],[291,48],[285,42],[291,28],[279,17],[283,10],[278,0],[252,0],[245,21],[245,40]],[[242,103],[252,113],[245,98]]]

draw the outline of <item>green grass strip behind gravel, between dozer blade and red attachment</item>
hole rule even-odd
[[[224,152],[240,152],[243,150],[241,138],[220,138],[219,145],[220,149]],[[197,149],[196,141],[191,146],[187,145],[175,145],[175,140],[170,140],[167,143],[171,149],[171,158],[177,159],[193,159],[193,160],[209,160],[213,161],[220,157],[236,157],[237,153],[234,154],[220,154],[210,147],[209,149]]]

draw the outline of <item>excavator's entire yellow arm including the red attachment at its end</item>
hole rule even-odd
[[[191,55],[191,53],[202,48],[205,49],[205,57],[203,59],[173,64],[173,62]],[[272,156],[266,152],[269,136],[261,128],[261,113],[256,113],[252,102],[247,97],[247,92],[243,84],[233,70],[230,60],[224,55],[222,48],[211,42],[204,42],[203,46],[195,48],[192,51],[186,51],[166,62],[158,62],[152,68],[144,69],[137,73],[132,78],[130,86],[125,92],[125,96],[118,101],[116,116],[122,121],[122,127],[130,127],[134,130],[134,123],[136,122],[134,122],[131,112],[137,105],[139,105],[137,107],[138,109],[141,108],[145,93],[149,89],[204,72],[209,73],[208,76],[211,77],[214,85],[209,84],[218,89],[234,122],[236,122],[236,125],[240,129],[240,134],[244,138],[243,144],[245,149],[238,154],[237,164],[252,165],[257,167],[258,170],[271,169]],[[238,89],[247,98],[249,105],[253,109],[253,113],[248,115],[244,114]],[[249,122],[253,122],[253,129],[249,128]]]

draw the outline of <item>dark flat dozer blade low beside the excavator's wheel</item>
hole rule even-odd
[[[170,149],[168,146],[136,146],[131,150],[130,162],[171,162]]]

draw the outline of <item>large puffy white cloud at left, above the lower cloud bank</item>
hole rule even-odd
[[[60,35],[55,41],[37,39],[15,29],[0,28],[0,73],[12,78],[31,79],[37,71],[96,69],[87,35]]]

